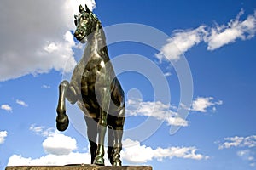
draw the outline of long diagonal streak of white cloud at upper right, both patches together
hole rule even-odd
[[[230,20],[226,25],[205,26],[201,25],[195,29],[175,30],[172,37],[156,54],[156,58],[176,61],[200,42],[207,43],[207,50],[215,50],[236,42],[237,39],[247,40],[255,36],[256,33],[256,11],[249,14],[246,20],[241,20],[243,10],[237,14],[236,19]]]

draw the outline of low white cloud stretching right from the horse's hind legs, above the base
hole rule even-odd
[[[125,139],[123,145],[124,150],[121,152],[122,158],[125,161],[129,161],[134,164],[146,163],[153,159],[162,161],[165,158],[172,159],[173,157],[193,160],[209,158],[209,156],[203,156],[196,153],[197,149],[195,147],[158,147],[156,149],[152,149],[151,147],[142,145],[140,142],[133,141],[131,139]]]

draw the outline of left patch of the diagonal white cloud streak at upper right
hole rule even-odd
[[[178,60],[181,55],[203,40],[206,34],[206,26],[199,26],[195,30],[173,31],[172,38],[168,39],[168,43],[160,49],[160,53],[156,57],[160,60]]]

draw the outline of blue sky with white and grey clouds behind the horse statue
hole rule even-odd
[[[256,169],[253,0],[1,1],[0,169],[90,163],[76,105],[67,131],[55,129],[59,83],[83,53],[72,32],[85,2],[125,90],[124,165]]]

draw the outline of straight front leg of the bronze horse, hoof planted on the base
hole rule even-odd
[[[104,139],[107,131],[107,112],[110,101],[110,93],[108,88],[101,88],[97,95],[101,109],[100,109],[100,118],[98,122],[98,148],[96,150],[96,158],[94,164],[104,165]]]

